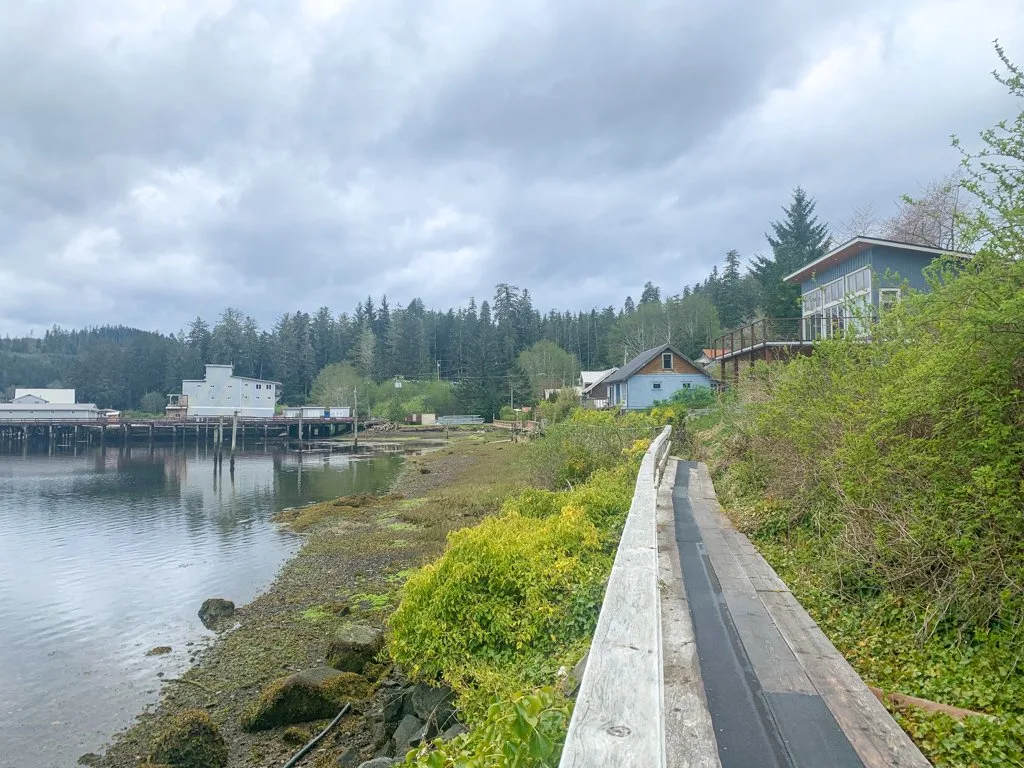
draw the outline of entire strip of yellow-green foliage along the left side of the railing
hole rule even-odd
[[[602,467],[575,470],[579,482],[568,490],[507,498],[497,515],[451,534],[444,554],[409,577],[390,618],[390,653],[414,678],[451,685],[473,726],[411,754],[410,765],[557,764],[568,706],[544,686],[580,659],[593,635],[649,444],[636,435],[649,433],[653,421],[574,412],[554,428],[563,447],[552,460],[571,461],[582,435],[614,446]]]

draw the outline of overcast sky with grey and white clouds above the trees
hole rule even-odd
[[[953,170],[1019,108],[996,37],[1020,0],[8,2],[0,335],[677,293],[798,184]]]

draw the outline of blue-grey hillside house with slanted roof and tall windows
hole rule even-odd
[[[925,267],[947,254],[973,255],[876,238],[854,238],[834,248],[784,279],[801,287],[801,337],[842,333],[851,322],[896,303],[906,290],[927,292]]]

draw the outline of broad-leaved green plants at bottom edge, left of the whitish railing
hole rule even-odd
[[[419,768],[555,768],[571,703],[553,688],[496,697],[468,733],[413,750],[406,765]]]

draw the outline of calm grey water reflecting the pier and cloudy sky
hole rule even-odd
[[[296,550],[270,515],[381,488],[400,461],[243,453],[232,481],[196,449],[0,455],[0,766],[100,751],[213,636],[203,600],[250,601]]]

